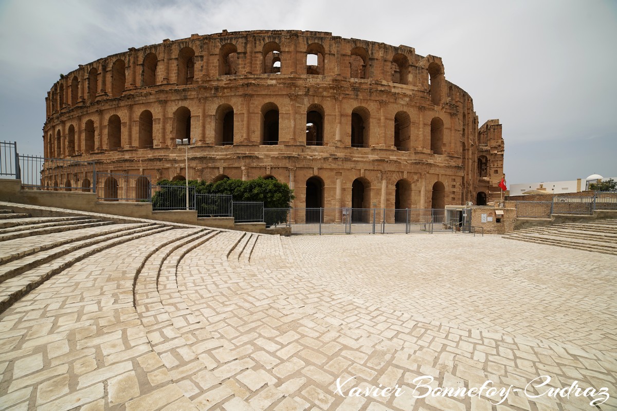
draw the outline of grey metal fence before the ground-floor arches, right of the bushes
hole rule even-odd
[[[444,210],[387,208],[267,208],[268,227],[292,234],[410,234],[452,232]]]

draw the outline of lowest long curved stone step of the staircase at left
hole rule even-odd
[[[106,250],[112,246],[144,237],[144,234],[152,235],[171,229],[172,227],[169,226],[159,226],[152,230],[148,230],[146,233],[139,232],[136,234],[123,235],[118,238],[113,238],[112,240],[107,240],[85,248],[80,248],[72,253],[68,253],[60,258],[54,259],[47,264],[43,264],[42,266],[35,267],[34,269],[24,272],[17,277],[6,280],[0,283],[0,313],[4,312],[11,306],[11,304],[22,298],[22,296],[26,295],[30,292],[30,290],[39,287],[39,285],[43,284],[46,280],[59,272],[64,271],[67,267],[75,264],[75,262],[81,261],[88,256],[98,253],[99,251]]]

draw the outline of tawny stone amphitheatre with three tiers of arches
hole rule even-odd
[[[61,77],[46,98],[49,158],[151,182],[271,176],[291,185],[300,208],[499,198],[499,120],[479,127],[441,58],[413,47],[223,31],[130,48]],[[176,146],[186,138],[188,150]],[[68,168],[44,179],[75,189],[93,181]]]

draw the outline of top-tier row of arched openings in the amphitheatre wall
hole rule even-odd
[[[262,63],[259,72],[256,74],[278,74],[281,73],[281,68],[285,64],[289,64],[289,56],[285,56],[279,43],[268,41],[262,47]],[[305,50],[305,73],[307,75],[326,75],[326,51],[325,47],[320,43],[310,43]],[[349,77],[359,79],[371,78],[371,55],[368,49],[363,46],[355,46],[350,51],[349,56]],[[136,86],[151,87],[158,84],[167,83],[168,79],[164,79],[158,73],[161,64],[159,63],[159,55],[155,52],[147,52],[141,60],[141,68],[139,68],[139,79]],[[407,55],[398,52],[394,54],[390,62],[390,67],[386,70],[385,79],[392,83],[409,84],[410,78],[410,60]],[[196,52],[192,47],[182,47],[176,55],[176,84],[179,86],[191,85],[194,82],[196,65]],[[100,70],[99,70],[100,69]],[[431,62],[428,64],[428,89],[431,95],[433,104],[441,104],[441,90],[444,86],[444,70],[440,63]],[[88,102],[94,102],[97,99],[99,92],[106,90],[106,79],[101,78],[107,71],[106,65],[101,67],[91,67],[85,78],[86,81],[86,98]],[[122,96],[126,89],[126,71],[127,63],[125,59],[118,58],[112,63],[110,70],[110,91],[112,97]],[[252,70],[249,68],[247,73]],[[218,75],[237,75],[239,74],[239,57],[238,47],[233,43],[226,43],[220,46],[218,52]],[[131,80],[132,81],[132,80]],[[51,91],[51,111],[56,112],[65,104],[74,106],[80,101],[80,79],[77,75],[73,75],[68,81],[68,87],[65,95],[64,81],[60,81],[57,87]]]

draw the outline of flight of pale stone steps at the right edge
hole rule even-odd
[[[617,255],[617,220],[532,227],[504,235],[503,238]]]

